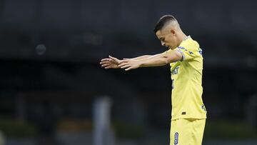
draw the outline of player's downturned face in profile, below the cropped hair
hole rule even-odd
[[[176,34],[172,29],[163,29],[156,32],[156,36],[161,41],[162,46],[166,46],[169,49],[176,49]]]

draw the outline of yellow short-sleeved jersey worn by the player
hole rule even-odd
[[[169,49],[166,53],[171,51],[178,51],[183,56],[181,61],[170,64],[171,119],[206,119],[202,100],[203,56],[199,44],[191,36],[186,36],[176,49]]]

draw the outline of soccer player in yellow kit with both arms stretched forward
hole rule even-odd
[[[139,67],[170,64],[171,132],[170,145],[199,145],[202,143],[206,123],[206,108],[202,101],[203,56],[197,41],[186,36],[178,21],[171,15],[158,20],[154,32],[167,51],[156,55],[143,55],[133,59],[101,59],[105,69],[137,69]]]

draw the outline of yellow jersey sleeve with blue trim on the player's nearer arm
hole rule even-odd
[[[198,44],[182,44],[178,46],[176,51],[180,52],[183,56],[182,61],[188,61],[201,56],[201,49]]]

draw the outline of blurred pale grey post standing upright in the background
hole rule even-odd
[[[114,145],[111,130],[111,99],[100,97],[94,101],[94,145]]]

